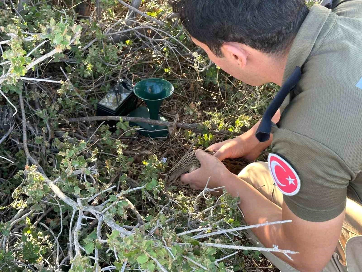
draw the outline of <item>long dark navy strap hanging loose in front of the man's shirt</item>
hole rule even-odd
[[[290,77],[285,81],[283,86],[278,91],[277,95],[275,95],[273,101],[269,104],[266,109],[263,118],[261,119],[260,125],[255,133],[257,139],[261,142],[268,141],[271,133],[271,126],[273,122],[271,118],[275,115],[278,108],[282,105],[284,99],[287,97],[289,92],[296,86],[300,77],[302,76],[302,71],[299,66],[296,66],[293,73]]]

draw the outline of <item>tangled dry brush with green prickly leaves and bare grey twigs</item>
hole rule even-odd
[[[272,270],[249,247],[238,199],[163,188],[193,144],[256,123],[277,86],[251,88],[212,65],[164,1],[0,8],[0,104],[12,121],[0,131],[0,271]],[[94,118],[118,79],[151,77],[175,87],[161,107],[168,137]]]

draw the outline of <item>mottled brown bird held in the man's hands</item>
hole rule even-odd
[[[204,151],[210,155],[215,154],[215,152],[210,149],[206,149]],[[237,175],[252,161],[245,158],[226,158],[222,162],[231,173]],[[167,189],[177,180],[178,177],[181,176],[181,174],[191,173],[200,167],[201,165],[195,156],[195,151],[186,153],[166,174],[164,191],[167,191]]]

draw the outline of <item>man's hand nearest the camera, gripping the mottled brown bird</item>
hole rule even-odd
[[[198,149],[195,152],[196,158],[199,160],[201,167],[189,174],[182,174],[180,179],[190,187],[196,190],[205,189],[207,180],[210,178],[207,188],[213,189],[225,186],[232,174],[227,170],[225,165],[215,156],[205,153]],[[220,192],[222,189],[219,190]]]

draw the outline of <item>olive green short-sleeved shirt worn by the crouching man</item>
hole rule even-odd
[[[341,214],[346,197],[362,199],[362,0],[314,5],[291,46],[283,83],[302,77],[281,107],[273,153],[298,173],[300,189],[283,195],[313,222]]]

